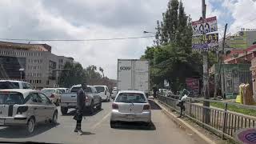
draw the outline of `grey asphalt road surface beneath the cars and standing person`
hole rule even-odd
[[[82,121],[82,136],[74,133],[75,121],[72,119],[74,110],[62,116],[59,111],[58,125],[39,125],[33,135],[27,136],[21,127],[0,127],[0,141],[19,142],[54,142],[54,143],[90,143],[90,144],[186,144],[198,142],[193,135],[187,134],[162,113],[154,102],[150,102],[152,110],[152,125],[123,124],[116,129],[110,128],[111,102],[103,102],[102,110],[94,115],[85,114]]]

